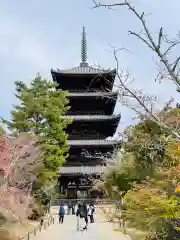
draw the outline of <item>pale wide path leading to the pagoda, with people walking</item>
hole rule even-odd
[[[114,232],[112,225],[103,222],[100,217],[96,217],[94,224],[89,224],[88,230],[78,232],[76,230],[76,217],[65,216],[64,224],[58,224],[55,217],[55,224],[51,225],[47,230],[38,233],[33,240],[129,240],[120,232]]]

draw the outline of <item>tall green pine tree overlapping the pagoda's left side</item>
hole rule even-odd
[[[38,137],[44,151],[38,179],[47,184],[57,176],[68,155],[65,129],[70,119],[61,118],[69,109],[67,92],[56,90],[54,83],[41,76],[37,76],[30,86],[23,82],[15,82],[15,85],[20,103],[13,106],[11,121],[2,121],[15,135],[28,132]]]

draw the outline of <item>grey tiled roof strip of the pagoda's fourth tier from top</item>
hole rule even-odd
[[[68,140],[68,145],[71,146],[113,146],[118,145],[120,141],[118,140]]]

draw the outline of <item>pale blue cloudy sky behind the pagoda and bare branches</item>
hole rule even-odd
[[[108,1],[102,1],[108,2]],[[109,0],[109,2],[112,2]],[[140,11],[151,13],[149,26],[154,35],[164,26],[169,36],[180,28],[180,1],[134,0]],[[125,9],[114,11],[92,9],[91,0],[6,0],[0,3],[0,115],[9,118],[14,97],[14,81],[30,82],[39,72],[50,76],[51,68],[71,68],[80,63],[82,26],[86,27],[88,62],[104,68],[115,67],[109,44],[126,47],[121,53],[121,67],[128,68],[135,77],[134,86],[146,93],[156,94],[161,104],[171,96],[180,100],[170,82],[155,83],[155,55],[128,30],[140,30],[138,21]],[[180,52],[177,49],[177,53]],[[132,114],[120,104],[119,131],[132,122]]]

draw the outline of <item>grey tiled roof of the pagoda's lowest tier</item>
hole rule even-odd
[[[82,166],[82,167],[62,167],[60,174],[102,174],[105,171],[104,166]]]

